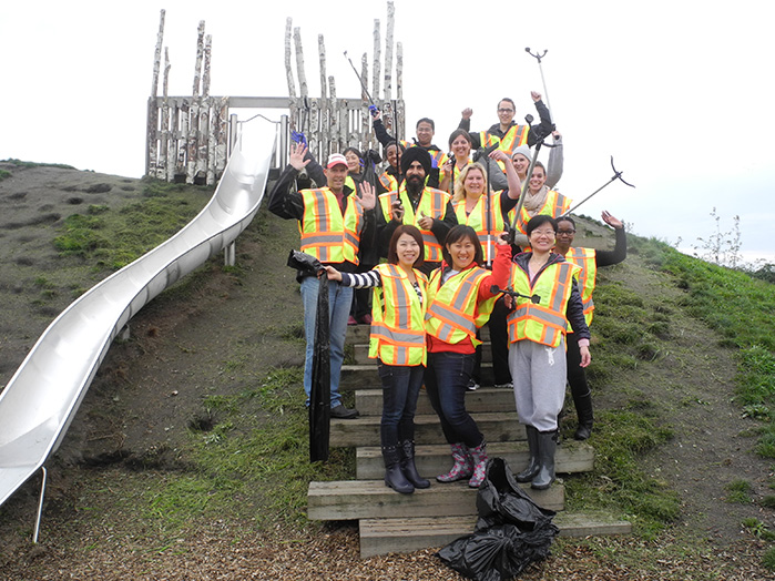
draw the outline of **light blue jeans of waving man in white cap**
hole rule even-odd
[[[319,281],[314,276],[302,279],[302,302],[304,304],[304,336],[307,339],[307,350],[304,359],[304,391],[309,393],[313,385],[313,354],[315,351],[315,318],[317,316],[317,290]],[[341,361],[345,359],[345,336],[347,335],[347,318],[353,304],[353,288],[341,286],[334,281],[328,282],[328,322],[330,332],[330,367],[332,367],[332,408],[341,404],[339,395],[339,376]]]

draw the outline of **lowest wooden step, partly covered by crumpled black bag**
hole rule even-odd
[[[359,521],[360,558],[441,548],[473,532],[476,522],[476,516],[361,519]],[[552,522],[560,529],[561,537],[632,532],[630,522],[602,513],[559,512]]]

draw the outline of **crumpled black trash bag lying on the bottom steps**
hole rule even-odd
[[[542,509],[514,480],[502,458],[487,462],[477,495],[479,520],[472,534],[449,543],[437,555],[460,574],[477,581],[506,581],[533,561],[549,557],[560,530],[553,510]]]

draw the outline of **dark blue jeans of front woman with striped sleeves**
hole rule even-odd
[[[385,365],[377,368],[383,381],[383,419],[379,424],[383,446],[396,446],[415,439],[415,410],[422,386],[421,365]]]

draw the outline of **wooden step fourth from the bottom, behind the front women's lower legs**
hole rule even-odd
[[[524,426],[516,411],[471,414],[479,430],[489,442],[524,440]],[[329,445],[334,447],[374,446],[380,441],[379,416],[355,419],[332,419]],[[439,418],[434,415],[415,416],[415,441],[441,444],[445,440]]]

